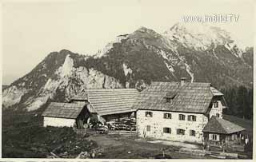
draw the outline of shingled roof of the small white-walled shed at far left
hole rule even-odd
[[[76,119],[85,105],[86,104],[51,102],[42,113],[42,116]]]

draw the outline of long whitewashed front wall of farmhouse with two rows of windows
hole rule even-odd
[[[203,114],[196,113],[172,113],[163,111],[151,111],[153,117],[145,117],[145,112],[148,110],[137,111],[137,130],[138,136],[153,137],[161,140],[176,140],[187,141],[202,144],[203,133],[202,129],[208,122],[208,118]],[[171,119],[164,119],[164,113],[171,113]],[[178,120],[178,114],[186,115],[185,121]],[[188,121],[188,115],[196,116],[196,121]],[[146,131],[146,126],[150,125],[150,132]],[[171,134],[164,133],[163,128],[171,128]],[[185,135],[177,135],[177,128],[185,130]],[[195,136],[190,136],[190,129],[195,131]]]

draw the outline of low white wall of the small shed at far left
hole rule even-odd
[[[43,117],[43,126],[53,127],[73,127],[75,119],[56,118],[56,117]]]

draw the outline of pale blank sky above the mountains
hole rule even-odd
[[[29,73],[52,51],[92,54],[119,34],[140,26],[163,33],[184,15],[237,14],[214,23],[253,45],[252,1],[74,0],[5,1],[2,4],[2,81]]]

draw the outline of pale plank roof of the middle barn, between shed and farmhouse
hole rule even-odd
[[[103,116],[134,111],[134,109],[132,109],[132,105],[138,97],[138,90],[85,89],[84,92],[82,92],[82,96],[86,96],[90,102],[90,105],[95,109],[95,111],[99,115]]]

